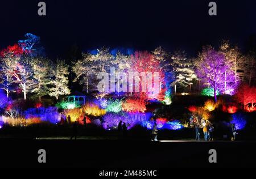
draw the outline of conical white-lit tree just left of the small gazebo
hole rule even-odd
[[[59,99],[60,95],[69,95],[68,66],[64,61],[57,60],[55,69],[52,70],[51,82],[49,82],[49,96]]]

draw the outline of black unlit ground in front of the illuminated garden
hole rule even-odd
[[[51,139],[51,140],[48,140]],[[67,137],[36,139],[0,138],[0,167],[256,167],[256,142],[193,140],[117,140]],[[47,163],[38,163],[38,150],[47,152]],[[217,163],[209,163],[210,149]],[[96,170],[96,171],[97,171]],[[92,170],[92,171],[95,171]],[[92,172],[91,171],[91,172]]]

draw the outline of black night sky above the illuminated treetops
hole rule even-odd
[[[0,2],[0,48],[13,45],[27,32],[41,37],[48,56],[100,46],[152,50],[185,49],[190,56],[203,44],[230,39],[245,48],[256,32],[256,1],[217,2],[217,16],[208,15],[206,0],[64,1],[49,0],[47,16],[38,16],[37,0]]]

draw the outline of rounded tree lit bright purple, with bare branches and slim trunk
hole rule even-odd
[[[225,80],[228,80],[231,75],[226,75],[225,72],[229,71],[230,66],[225,62],[225,56],[212,48],[204,49],[199,55],[201,65],[199,66],[199,73],[213,88],[214,100],[217,102],[217,92],[224,90]]]

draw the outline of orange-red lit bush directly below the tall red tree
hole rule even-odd
[[[144,113],[146,110],[146,102],[142,99],[127,99],[125,103],[122,103],[122,110],[133,113]]]

